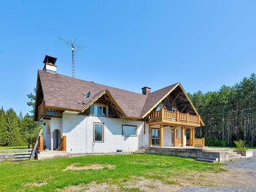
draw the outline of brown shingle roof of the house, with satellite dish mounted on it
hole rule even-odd
[[[47,106],[80,112],[91,102],[91,99],[85,98],[82,93],[91,91],[91,97],[94,99],[107,89],[127,117],[142,117],[177,85],[176,83],[143,95],[41,70],[38,70],[38,75]]]

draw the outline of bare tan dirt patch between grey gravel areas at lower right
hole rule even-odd
[[[180,177],[172,178],[183,186],[237,186],[253,185],[256,179],[243,169],[228,168],[226,172],[188,172]]]

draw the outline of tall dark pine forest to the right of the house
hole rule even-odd
[[[232,146],[241,139],[248,146],[256,146],[255,89],[252,73],[231,87],[188,94],[205,123],[196,129],[196,136],[205,137],[208,145]]]

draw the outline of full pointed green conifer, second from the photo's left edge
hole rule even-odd
[[[12,108],[6,111],[6,125],[8,131],[8,145],[16,146],[20,143],[20,127],[18,117]]]

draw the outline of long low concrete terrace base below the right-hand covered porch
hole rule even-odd
[[[151,146],[145,150],[145,153],[189,158],[214,157],[218,158],[219,162],[225,162],[228,160],[228,151],[228,148]]]

